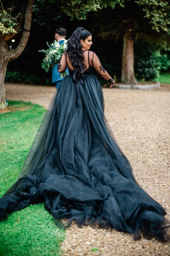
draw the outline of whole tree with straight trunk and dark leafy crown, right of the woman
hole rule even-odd
[[[61,9],[78,20],[91,14],[91,26],[103,39],[122,38],[121,81],[136,84],[133,44],[137,38],[167,46],[170,3],[167,0],[61,0]]]

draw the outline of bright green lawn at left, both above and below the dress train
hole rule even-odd
[[[9,108],[0,113],[0,196],[17,180],[45,113],[26,102],[9,102]],[[0,222],[0,255],[61,255],[64,237],[43,204],[30,205]]]

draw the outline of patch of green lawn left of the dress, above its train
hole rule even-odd
[[[19,177],[46,111],[29,102],[9,104],[17,111],[0,114],[0,195]],[[23,108],[25,111],[20,111]]]

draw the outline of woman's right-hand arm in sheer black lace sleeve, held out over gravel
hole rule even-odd
[[[99,75],[102,76],[103,79],[107,80],[111,84],[110,87],[113,87],[113,85],[115,84],[115,81],[108,74],[108,72],[103,68],[102,63],[100,62],[95,52],[93,52],[92,64],[94,69],[97,71],[97,73],[99,73]]]

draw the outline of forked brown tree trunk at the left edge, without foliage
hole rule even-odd
[[[8,49],[5,35],[0,34],[0,109],[6,108],[6,91],[4,86],[8,62],[18,58],[26,47],[31,28],[31,17],[34,0],[28,0],[25,13],[24,32],[16,49]]]

